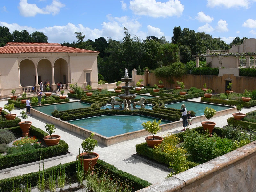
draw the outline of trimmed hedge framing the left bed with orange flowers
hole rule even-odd
[[[21,134],[20,127],[14,127],[14,128],[8,128],[8,129],[17,134]],[[30,134],[32,134],[33,136],[41,140],[43,140],[44,136],[48,135],[46,132],[44,132],[39,128],[34,127],[33,125],[31,125],[29,132]],[[30,161],[36,161],[43,156],[51,157],[51,156],[60,155],[67,152],[68,152],[68,143],[66,143],[63,140],[60,140],[58,145],[54,145],[51,147],[39,148],[39,149],[30,150],[30,151],[23,151],[20,153],[0,156],[0,169],[3,169],[4,167],[7,167],[7,166],[14,166],[17,164],[28,163]]]

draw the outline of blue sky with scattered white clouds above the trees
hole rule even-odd
[[[39,31],[49,43],[105,37],[147,36],[171,42],[173,28],[189,28],[221,38],[256,38],[256,0],[1,0],[0,26]]]

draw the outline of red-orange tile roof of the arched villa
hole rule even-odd
[[[15,53],[99,53],[86,49],[78,49],[73,47],[61,46],[58,43],[7,43],[4,47],[0,47],[0,54]]]

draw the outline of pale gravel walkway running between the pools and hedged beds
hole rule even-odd
[[[200,98],[196,98],[192,100],[200,101]],[[0,101],[0,107],[3,107],[4,104],[8,104],[8,102]],[[246,109],[244,108],[241,112],[247,113],[253,110],[256,110],[256,107],[246,108]],[[20,112],[21,110],[17,108],[14,111],[12,111],[12,113],[17,114],[17,117],[21,118]],[[232,117],[232,114],[213,118],[211,121],[216,122],[217,127],[223,127],[224,125],[227,125],[228,117]],[[42,130],[45,131],[44,126],[47,122],[44,121],[44,119],[38,119],[37,117],[34,117],[34,116],[28,116],[27,120],[32,121],[32,125],[34,125],[35,127],[41,128]],[[196,126],[201,126],[200,122],[199,123],[192,122],[191,128],[194,128]],[[180,127],[176,129],[160,132],[157,135],[161,136],[167,132],[177,133],[177,132],[180,132],[180,130],[182,129],[183,129],[182,124],[180,124]],[[66,162],[75,161],[76,156],[79,154],[79,148],[81,148],[81,142],[83,139],[82,136],[76,135],[75,133],[72,133],[72,132],[68,132],[67,130],[62,129],[59,126],[56,126],[55,133],[60,135],[61,139],[68,143],[69,152],[72,154],[70,156],[59,158],[59,159],[53,158],[53,160],[47,161],[44,163],[44,168],[58,165],[60,163],[63,164]],[[131,173],[132,175],[140,177],[141,179],[147,180],[148,182],[154,184],[156,182],[164,180],[164,178],[168,175],[169,172],[132,157],[133,154],[136,154],[135,145],[138,143],[145,142],[144,138],[145,137],[128,140],[128,141],[124,141],[122,143],[114,144],[108,147],[99,145],[94,151],[100,154],[99,159],[104,160],[116,166],[118,169]],[[23,165],[23,167],[17,168],[14,170],[5,169],[4,172],[1,172],[3,170],[0,170],[0,179],[13,177],[16,175],[20,175],[21,173],[25,174],[29,172],[36,172],[38,170],[39,170],[39,164],[33,164],[33,165],[25,164]]]

